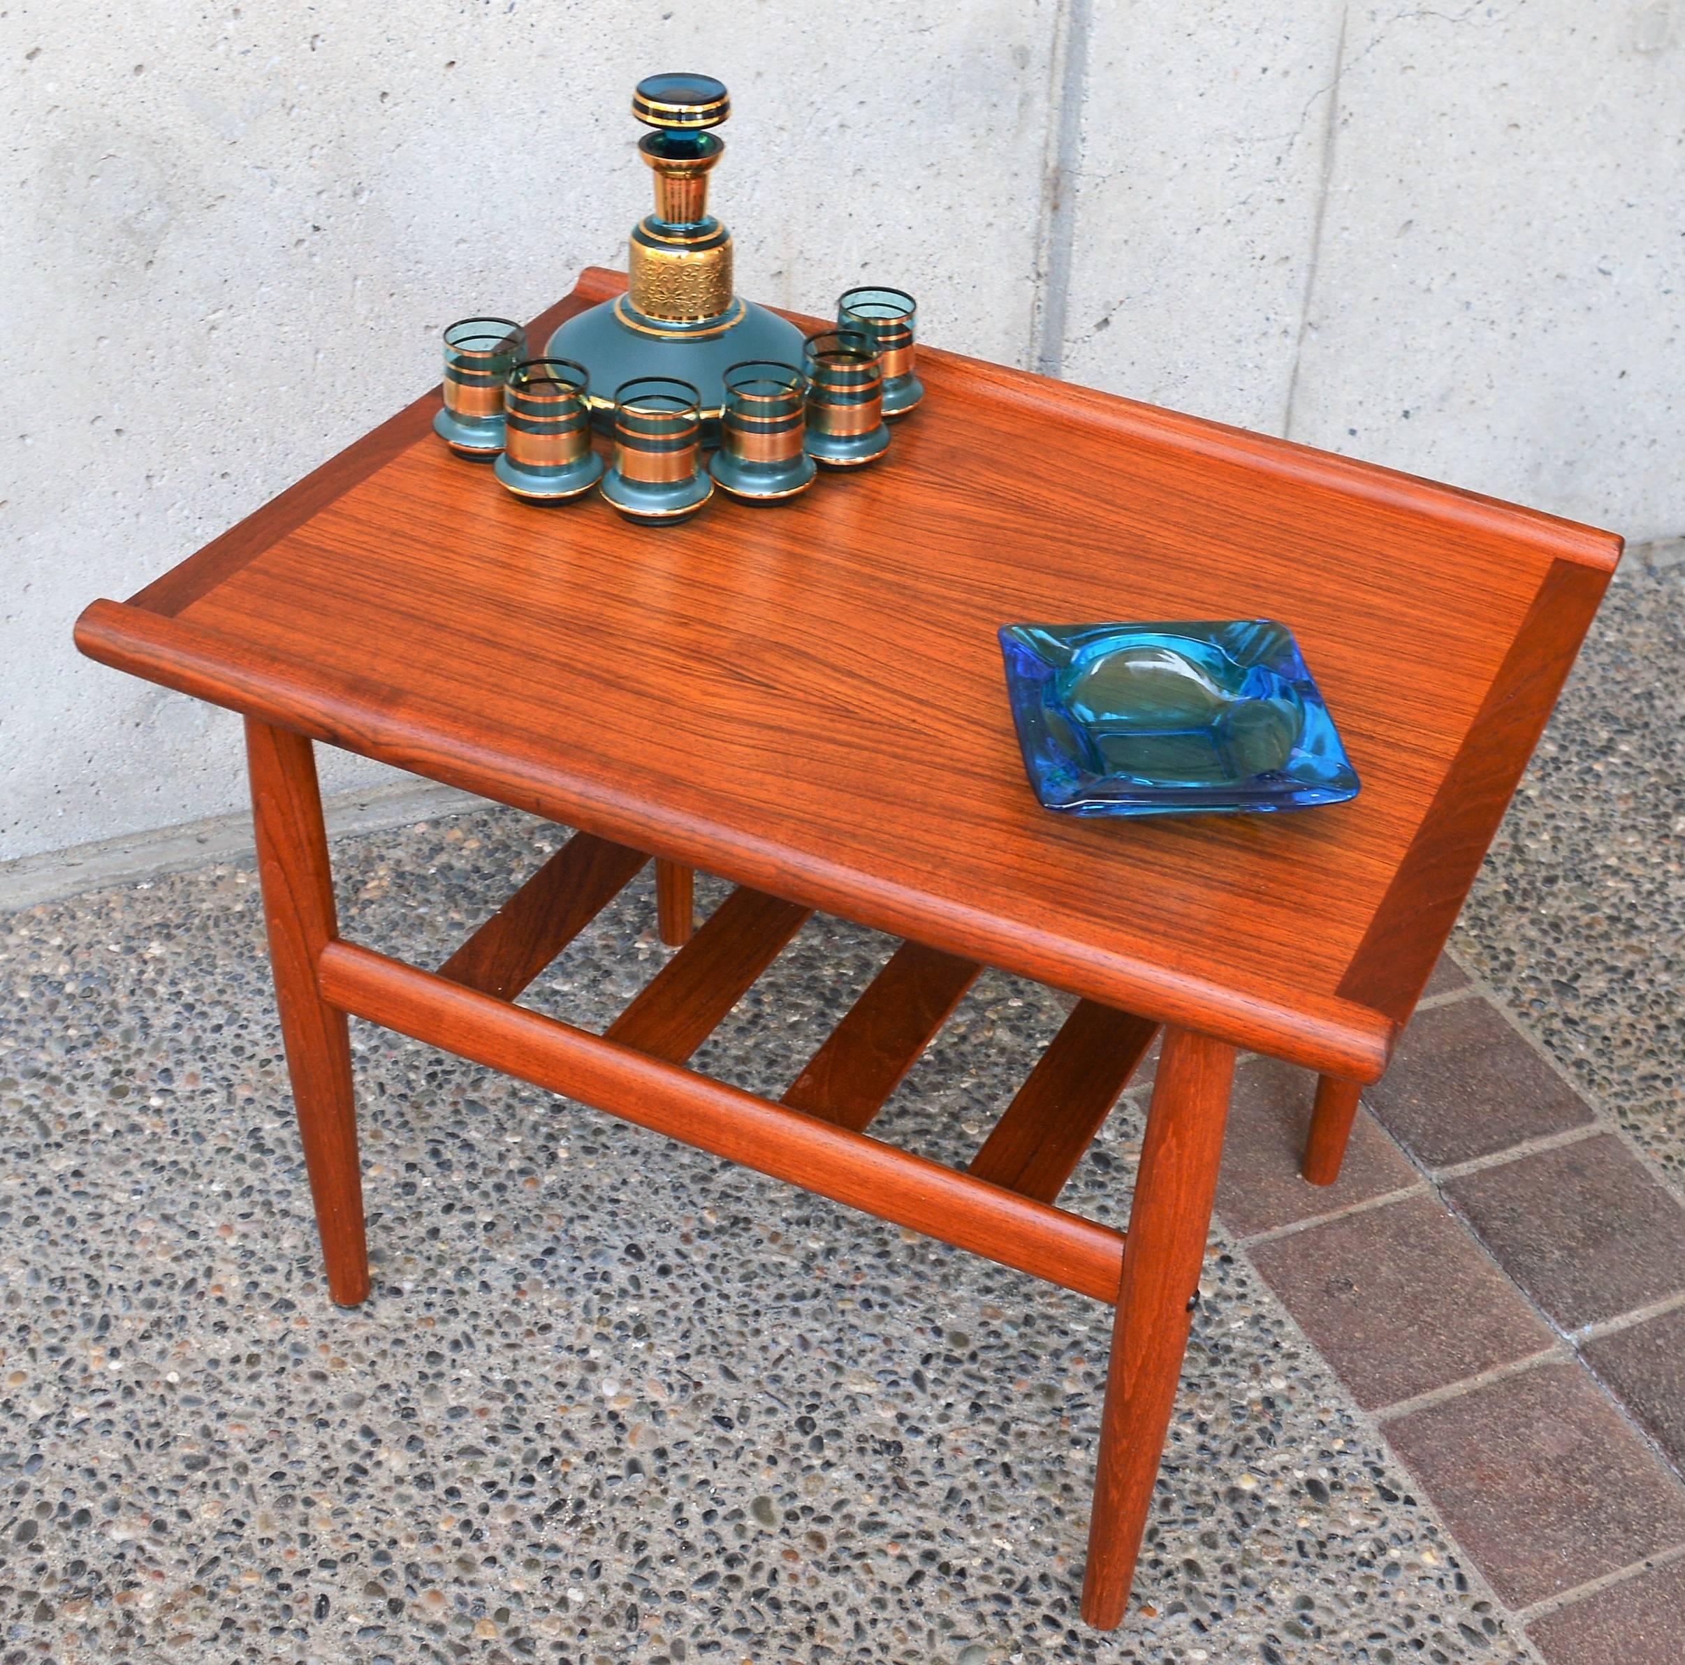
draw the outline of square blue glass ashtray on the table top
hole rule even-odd
[[[1004,625],[1001,652],[1045,809],[1240,814],[1356,797],[1299,644],[1269,618]]]

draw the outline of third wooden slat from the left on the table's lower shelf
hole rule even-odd
[[[903,942],[790,1082],[784,1102],[863,1132],[982,967]]]

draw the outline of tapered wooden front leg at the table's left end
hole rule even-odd
[[[369,1294],[369,1250],[362,1227],[350,1036],[345,1015],[322,999],[317,984],[317,959],[339,935],[339,922],[315,755],[300,735],[248,716],[246,767],[275,1001],[327,1286],[340,1306],[356,1306]]]

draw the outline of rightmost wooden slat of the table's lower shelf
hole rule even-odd
[[[971,1173],[1053,1202],[1156,1033],[1149,1018],[1078,1001],[972,1158]]]

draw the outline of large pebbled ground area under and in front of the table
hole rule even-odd
[[[436,964],[559,836],[342,839],[347,935]],[[782,1090],[890,949],[810,922],[696,1065]],[[526,998],[664,954],[645,873]],[[0,918],[0,1665],[1532,1658],[1222,1239],[1104,1636],[1097,1304],[354,1025],[339,1311],[249,866]],[[986,976],[876,1131],[962,1161],[1060,1016]],[[1126,1218],[1139,1134],[1067,1205]]]

